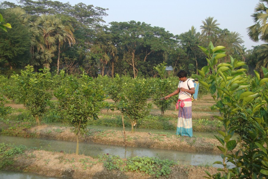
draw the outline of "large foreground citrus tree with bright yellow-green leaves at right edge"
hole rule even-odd
[[[230,57],[230,63],[220,63],[225,57],[225,47],[214,47],[210,42],[208,49],[199,46],[207,56],[208,66],[198,70],[196,75],[200,84],[214,98],[220,115],[214,116],[223,122],[225,131],[215,135],[221,143],[223,172],[210,174],[206,178],[267,178],[268,177],[268,70],[261,79],[255,71],[255,79],[250,81],[246,75],[245,62]],[[211,71],[211,75],[205,78]],[[238,139],[234,135],[238,135]],[[228,163],[234,165],[228,168]]]

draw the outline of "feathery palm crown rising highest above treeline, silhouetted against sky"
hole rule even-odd
[[[201,31],[201,36],[211,36],[215,30],[219,29],[217,27],[220,24],[217,24],[217,20],[213,20],[214,17],[208,17],[205,19],[205,21],[202,21],[203,25],[200,26]]]

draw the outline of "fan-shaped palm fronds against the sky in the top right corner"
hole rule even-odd
[[[255,7],[254,14],[251,15],[253,17],[254,25],[247,28],[247,34],[250,39],[254,42],[258,42],[259,40],[268,43],[268,0],[260,0]]]

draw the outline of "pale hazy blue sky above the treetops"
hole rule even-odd
[[[0,0],[1,1],[1,0]],[[16,0],[6,0],[16,3]],[[94,7],[108,8],[106,23],[117,21],[140,21],[151,26],[165,28],[170,33],[181,34],[193,25],[197,32],[205,18],[211,16],[219,28],[241,34],[247,49],[263,44],[254,43],[247,36],[246,28],[253,25],[254,8],[259,0],[58,0],[71,5],[80,2]]]

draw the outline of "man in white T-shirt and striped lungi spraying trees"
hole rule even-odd
[[[192,100],[191,94],[194,94],[194,82],[187,78],[187,72],[180,70],[177,73],[179,85],[177,90],[167,95],[165,99],[179,93],[177,109],[179,109],[176,135],[193,137],[192,129]]]

